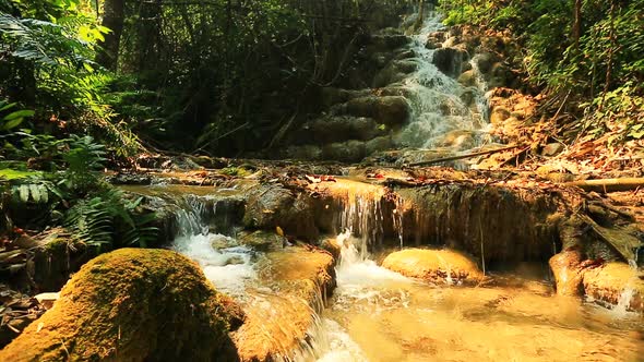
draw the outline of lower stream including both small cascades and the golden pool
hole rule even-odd
[[[277,360],[642,360],[642,317],[623,306],[606,309],[557,297],[548,281],[535,277],[503,276],[508,287],[433,286],[379,266],[371,253],[381,237],[374,226],[387,216],[368,195],[354,194],[339,210],[338,228],[346,230],[335,238],[341,257],[333,297],[325,307],[310,310],[313,324],[301,348]],[[274,312],[272,305],[286,300],[279,292],[258,293],[265,289],[258,279],[261,253],[228,248],[235,240],[208,230],[200,217],[202,208],[180,214],[183,231],[175,249],[198,261],[218,290]],[[288,328],[288,316],[271,317],[284,318],[277,323]]]

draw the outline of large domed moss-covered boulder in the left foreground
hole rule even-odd
[[[242,312],[190,260],[121,249],[84,265],[0,361],[228,361]]]

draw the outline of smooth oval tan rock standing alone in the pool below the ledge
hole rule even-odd
[[[476,263],[451,250],[407,249],[387,255],[382,266],[434,283],[476,285],[484,278]]]

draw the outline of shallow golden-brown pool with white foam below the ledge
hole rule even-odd
[[[642,361],[642,318],[557,297],[545,280],[437,287],[344,242],[337,289],[309,361]],[[348,238],[348,240],[354,240]]]

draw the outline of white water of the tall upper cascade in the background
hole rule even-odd
[[[437,147],[441,145],[443,136],[452,131],[478,133],[475,144],[467,143],[472,147],[482,141],[482,133],[477,132],[482,131],[488,123],[488,102],[484,96],[486,84],[482,77],[477,76],[475,87],[463,86],[455,79],[439,71],[432,63],[437,50],[426,48],[428,35],[444,29],[441,15],[432,12],[419,34],[413,36],[412,50],[416,58],[412,61],[417,63],[417,71],[402,81],[412,106],[412,119],[396,140],[401,146]],[[448,38],[445,44],[449,41]],[[476,63],[470,61],[470,64],[475,74],[479,74]],[[462,99],[466,92],[474,95],[473,105],[467,105]]]

